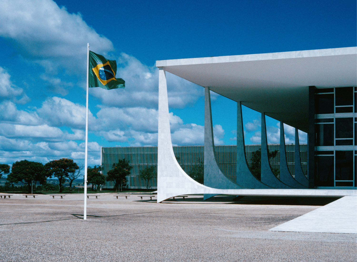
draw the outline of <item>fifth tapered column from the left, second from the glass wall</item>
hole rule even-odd
[[[307,188],[297,182],[290,174],[286,162],[284,124],[280,121],[280,181],[294,188]]]

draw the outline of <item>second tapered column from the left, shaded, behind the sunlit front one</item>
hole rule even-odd
[[[244,188],[230,180],[218,166],[215,157],[215,142],[213,139],[212,109],[210,89],[205,87],[205,158],[203,184],[208,187],[219,189]],[[215,196],[214,194],[203,195],[203,200]]]

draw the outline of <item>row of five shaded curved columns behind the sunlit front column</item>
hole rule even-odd
[[[261,179],[258,180],[248,168],[245,156],[242,105],[237,103],[237,178],[236,182],[230,180],[220,170],[214,155],[214,142],[212,130],[212,113],[210,90],[205,87],[205,170],[204,185],[213,188],[307,188],[308,180],[302,173],[298,133],[295,136],[295,177],[288,170],[285,152],[285,139],[283,122],[280,122],[280,179],[272,172],[268,159],[268,144],[266,135],[265,114],[262,113],[261,123]],[[211,196],[205,195],[205,199]]]

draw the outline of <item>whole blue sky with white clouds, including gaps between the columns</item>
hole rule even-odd
[[[126,88],[90,89],[89,165],[100,146],[156,146],[156,60],[356,46],[356,1],[4,0],[0,163],[84,162],[86,44]],[[203,88],[168,74],[172,142],[203,144]],[[236,102],[211,94],[215,143],[235,144]],[[260,113],[243,108],[245,143]],[[268,142],[277,121],[266,118]],[[286,143],[294,129],[286,126]],[[301,132],[301,143],[306,133]]]

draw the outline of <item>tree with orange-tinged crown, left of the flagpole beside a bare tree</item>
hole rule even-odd
[[[69,173],[74,172],[79,166],[69,158],[61,158],[59,160],[52,160],[45,164],[47,174],[52,177],[57,177],[59,181],[60,193],[62,193],[62,185],[69,177]]]

